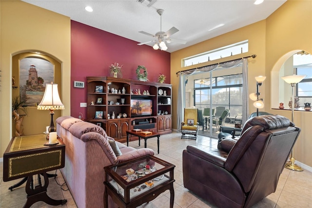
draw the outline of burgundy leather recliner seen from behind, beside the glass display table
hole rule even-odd
[[[183,150],[184,187],[220,208],[249,208],[275,192],[300,128],[286,117],[249,119],[238,140]]]

